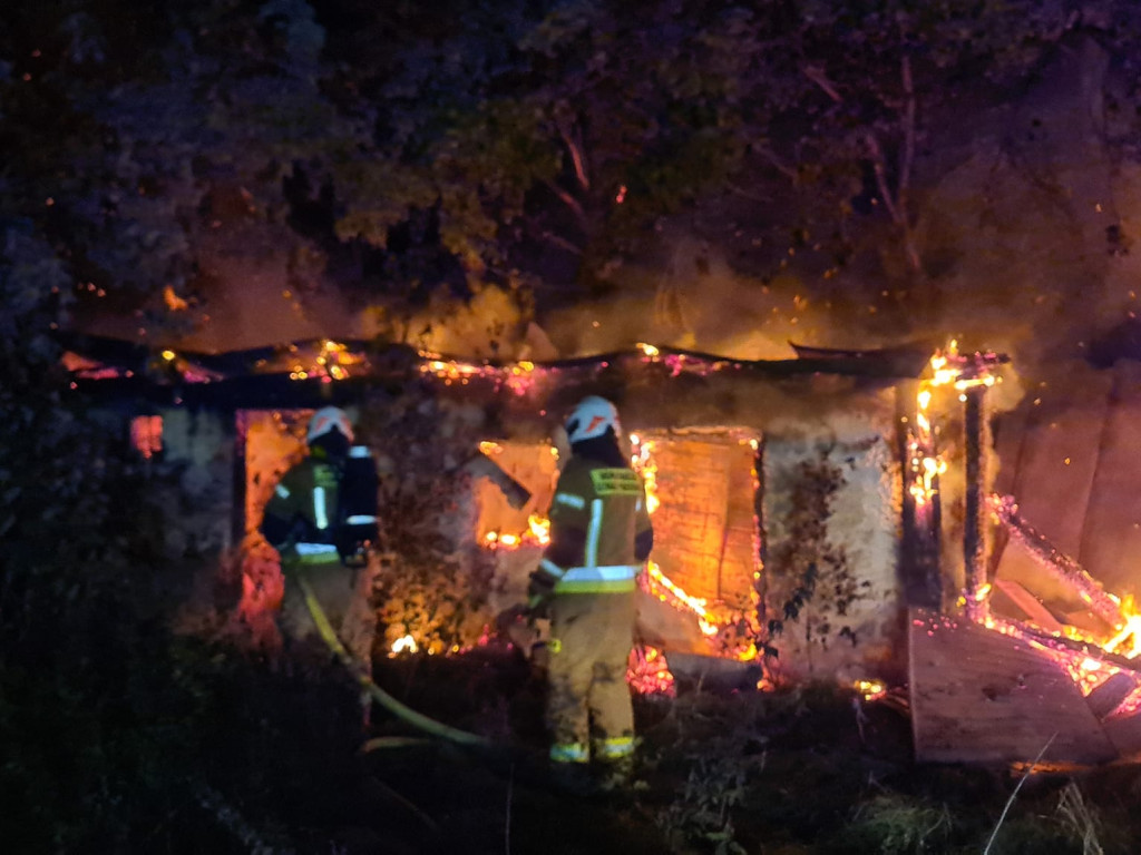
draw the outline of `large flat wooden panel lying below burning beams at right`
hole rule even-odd
[[[1060,665],[965,619],[911,611],[915,757],[934,763],[1094,765],[1118,752]]]

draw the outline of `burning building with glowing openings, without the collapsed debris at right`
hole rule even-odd
[[[364,415],[400,397],[432,401],[442,414],[432,448],[446,458],[436,465],[467,474],[448,524],[493,565],[492,611],[523,600],[542,551],[566,453],[561,414],[584,394],[607,396],[622,412],[656,530],[642,641],[675,669],[730,661],[739,663],[733,678],[755,683],[899,681],[906,608],[941,609],[968,584],[940,554],[940,529],[955,518],[939,512],[948,459],[933,422],[961,429],[960,392],[948,405],[938,390],[958,382],[961,391],[971,372],[990,382],[998,360],[977,370],[930,357],[924,348],[802,349],[795,359],[743,361],[641,344],[495,365],[329,341],[208,357],[86,340],[68,359],[76,385],[146,402],[131,422],[136,445],[180,467],[192,496],[212,490],[191,504],[213,519],[196,515],[181,540],[215,549],[250,546],[274,471],[301,453],[296,425],[308,410],[337,402]],[[948,413],[937,415],[940,407]],[[369,437],[367,417],[362,429]],[[371,445],[399,478],[412,461],[397,448],[405,431],[386,430]],[[266,579],[246,579],[246,600],[250,588],[269,606],[277,596]],[[402,629],[402,638],[416,634]]]

